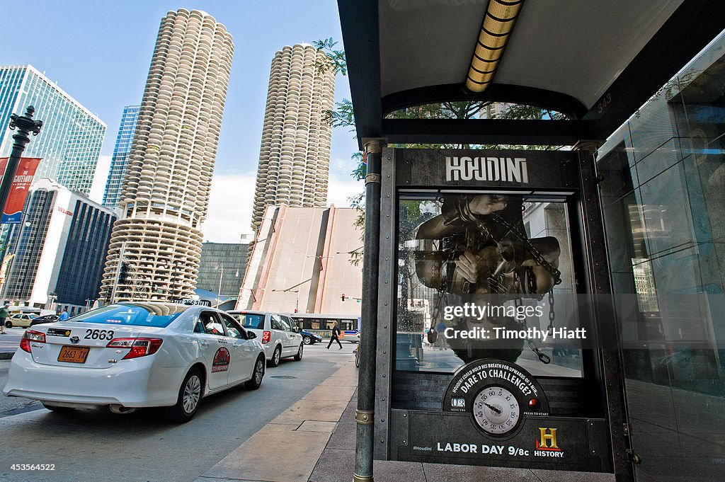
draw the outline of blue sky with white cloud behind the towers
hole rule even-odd
[[[208,12],[233,36],[234,57],[212,180],[204,241],[234,243],[251,233],[270,66],[276,51],[294,43],[334,38],[343,48],[336,0],[0,0],[4,25],[33,42],[0,42],[0,65],[30,64],[107,124],[91,199],[103,195],[123,107],[141,104],[159,23],[170,10]],[[349,99],[338,75],[335,100]],[[347,206],[363,191],[350,177],[354,134],[334,130],[328,202]]]

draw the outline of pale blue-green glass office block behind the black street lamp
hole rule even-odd
[[[43,159],[36,179],[55,179],[88,196],[106,124],[32,65],[0,66],[0,125],[7,126],[11,114],[22,115],[29,105],[43,121],[40,135],[23,153]],[[12,131],[0,129],[0,157],[9,157],[12,142]]]

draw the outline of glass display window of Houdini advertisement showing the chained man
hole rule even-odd
[[[561,201],[402,196],[397,370],[453,373],[498,358],[532,375],[581,377],[581,339],[552,341],[579,328],[569,233]]]

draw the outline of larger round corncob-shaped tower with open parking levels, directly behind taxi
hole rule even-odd
[[[104,302],[190,298],[234,46],[210,14],[161,20],[113,228]]]

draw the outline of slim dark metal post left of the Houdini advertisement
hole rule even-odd
[[[378,331],[378,255],[380,254],[380,184],[384,142],[365,141],[365,244],[363,246],[363,307],[360,327],[360,369],[357,373],[355,475],[353,482],[373,482],[375,442],[375,354]]]

